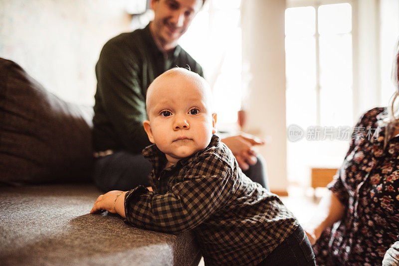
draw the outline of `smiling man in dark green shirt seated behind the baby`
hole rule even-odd
[[[96,65],[97,92],[93,118],[96,157],[93,179],[104,190],[149,185],[152,165],[141,154],[150,144],[144,131],[146,93],[166,70],[189,66],[203,76],[200,65],[178,44],[205,0],[152,0],[154,20],[144,29],[122,33],[103,47]],[[265,166],[250,135],[222,139],[252,180],[267,186]]]

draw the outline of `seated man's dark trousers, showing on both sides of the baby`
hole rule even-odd
[[[265,160],[259,155],[257,159],[257,163],[243,173],[269,190]],[[149,186],[148,175],[152,168],[152,164],[141,154],[117,151],[96,159],[93,179],[103,191],[130,190],[138,185]]]

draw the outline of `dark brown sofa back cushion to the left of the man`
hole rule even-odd
[[[0,58],[0,183],[90,180],[92,116]]]

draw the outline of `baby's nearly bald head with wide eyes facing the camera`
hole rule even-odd
[[[216,132],[211,98],[206,81],[184,68],[168,70],[150,84],[144,129],[168,161],[176,163],[209,144]]]

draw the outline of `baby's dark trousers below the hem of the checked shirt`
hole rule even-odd
[[[315,266],[315,254],[312,245],[301,226],[272,253],[267,256],[258,266]]]

